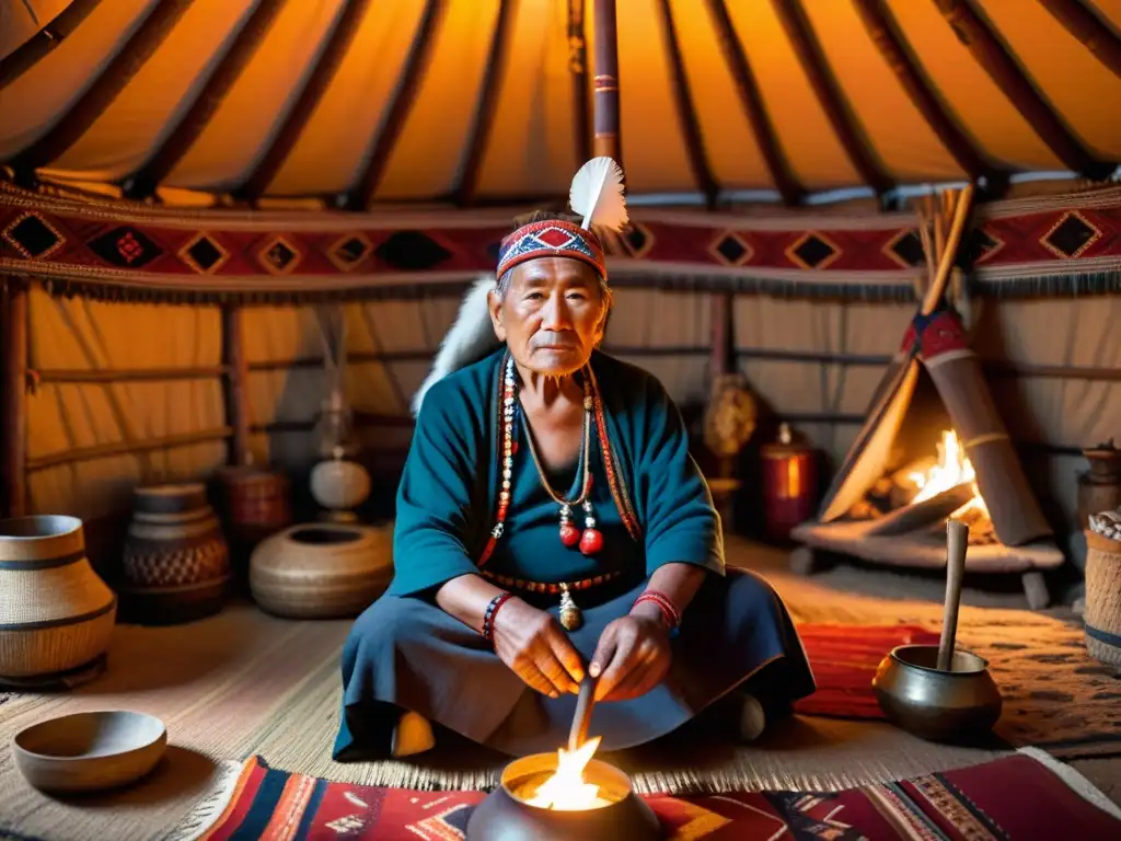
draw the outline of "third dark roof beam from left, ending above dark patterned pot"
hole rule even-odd
[[[210,126],[230,89],[241,78],[241,74],[260,49],[266,33],[276,21],[284,3],[285,0],[259,0],[233,44],[195,94],[189,108],[184,110],[178,123],[167,132],[164,141],[148,157],[143,166],[121,182],[126,197],[147,198],[155,195],[160,183],[175,169]]]

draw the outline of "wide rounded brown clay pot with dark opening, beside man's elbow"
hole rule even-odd
[[[253,599],[270,613],[295,619],[358,616],[389,586],[392,540],[391,527],[293,526],[253,551]]]

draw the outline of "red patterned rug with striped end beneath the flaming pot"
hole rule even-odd
[[[1055,760],[1048,760],[1048,765]],[[827,794],[650,796],[668,841],[1003,841],[1121,838],[1121,819],[1081,776],[1016,755],[985,765]],[[1064,773],[1069,773],[1066,770]],[[1075,791],[1080,788],[1083,794]],[[457,841],[483,792],[416,792],[328,783],[248,760],[206,841]],[[1113,829],[1110,829],[1110,828]]]

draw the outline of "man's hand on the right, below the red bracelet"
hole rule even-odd
[[[603,629],[589,674],[599,677],[596,701],[627,701],[657,686],[669,671],[666,626],[643,616],[624,616]]]

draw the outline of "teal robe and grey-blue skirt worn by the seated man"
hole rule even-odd
[[[527,687],[474,629],[434,601],[445,582],[479,572],[497,521],[503,357],[497,352],[447,376],[425,397],[397,496],[395,576],[386,595],[358,619],[343,651],[336,759],[385,756],[401,710],[512,755],[553,750],[566,738],[575,699],[548,699]],[[708,571],[684,613],[666,681],[640,699],[596,706],[593,727],[603,734],[604,749],[676,729],[760,671],[770,676],[769,693],[779,705],[812,692],[813,677],[781,601],[762,579],[725,571],[720,517],[661,383],[603,353],[593,354],[591,364],[623,505],[634,511],[639,533],[624,526],[596,444],[592,500],[604,546],[594,556],[565,547],[557,503],[539,481],[522,429],[506,528],[483,569],[544,583],[618,573],[611,584],[574,594],[584,626],[569,639],[585,660],[602,629],[629,612],[659,566],[686,563]],[[550,483],[571,497],[577,479],[574,466]],[[583,525],[578,512],[575,525]],[[557,616],[558,597],[516,592]]]

